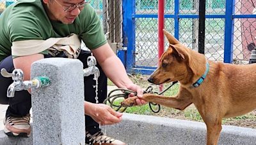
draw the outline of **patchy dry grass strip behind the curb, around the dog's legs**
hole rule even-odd
[[[147,88],[150,83],[147,82],[148,76],[144,76],[141,74],[136,74],[130,76],[132,81],[137,85],[142,86],[143,88]],[[114,85],[110,80],[108,80],[108,85]],[[164,88],[167,88],[169,85],[164,85]],[[154,85],[154,91],[157,90],[157,86]],[[164,95],[166,96],[174,96],[179,91],[179,84],[173,85],[169,90],[167,90]],[[122,100],[118,100],[115,103],[120,104]],[[155,108],[156,109],[156,108]],[[145,115],[153,115],[153,116],[161,116],[168,118],[177,118],[182,120],[191,120],[191,121],[200,121],[203,122],[202,117],[198,113],[196,107],[191,104],[191,106],[184,109],[184,111],[180,111],[178,109],[173,109],[170,107],[161,106],[161,111],[159,113],[153,113],[150,110],[150,107],[147,105],[144,106],[134,106],[128,107],[125,113],[133,113],[133,114],[145,114]],[[251,113],[244,114],[243,116],[237,116],[235,118],[223,118],[222,124],[224,125],[236,125],[240,127],[250,127],[256,128],[256,111],[252,111]]]

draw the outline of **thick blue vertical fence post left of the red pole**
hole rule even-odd
[[[124,46],[127,46],[126,71],[132,73],[135,64],[135,0],[123,0]]]

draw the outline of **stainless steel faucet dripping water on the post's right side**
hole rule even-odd
[[[87,65],[88,68],[84,69],[84,76],[90,76],[91,74],[94,74],[94,78],[99,78],[100,76],[100,71],[99,68],[96,66],[97,62],[95,57],[90,56],[87,58]]]

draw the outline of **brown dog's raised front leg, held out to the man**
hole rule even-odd
[[[133,106],[134,104],[136,104],[136,99],[138,99],[138,97],[129,97],[125,99],[121,104],[122,106]],[[189,97],[180,97],[179,95],[177,95],[176,97],[165,97],[163,95],[145,93],[143,94],[142,99],[146,100],[147,102],[154,102],[159,105],[173,107],[180,110],[185,109],[192,103]]]

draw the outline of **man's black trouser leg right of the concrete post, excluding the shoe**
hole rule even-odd
[[[91,56],[91,52],[82,50],[79,57],[77,59],[81,60],[84,65],[84,69],[88,67],[87,65],[87,57]],[[107,97],[107,77],[102,71],[99,64],[97,64],[97,67],[100,70],[100,76],[98,78],[98,100],[99,103],[102,103],[106,97]],[[84,77],[84,97],[85,100],[88,102],[95,103],[95,80],[93,79],[93,75]],[[86,108],[85,108],[86,109]],[[86,125],[86,131],[90,132],[90,134],[95,134],[100,131],[99,123],[95,122],[90,116],[85,116],[85,125]]]

